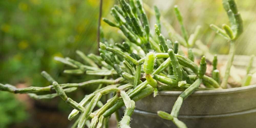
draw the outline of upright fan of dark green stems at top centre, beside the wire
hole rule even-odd
[[[103,21],[110,26],[119,28],[129,41],[141,46],[147,52],[151,49],[149,43],[150,28],[142,1],[130,0],[129,5],[125,0],[119,0],[119,3],[120,7],[115,5],[110,12],[116,23],[106,18],[103,18]]]

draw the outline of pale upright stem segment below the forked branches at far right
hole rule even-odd
[[[230,69],[234,60],[234,55],[235,55],[235,44],[233,41],[230,41],[229,58],[228,58],[228,63],[226,65],[225,76],[222,79],[222,82],[220,84],[220,87],[223,89],[227,88],[228,78],[229,78]]]

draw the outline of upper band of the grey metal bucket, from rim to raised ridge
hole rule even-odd
[[[170,112],[181,91],[163,91],[157,97],[150,95],[136,102],[136,109],[156,113]],[[217,115],[256,108],[256,85],[196,91],[184,100],[179,115]]]

